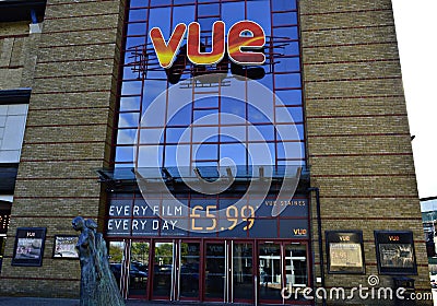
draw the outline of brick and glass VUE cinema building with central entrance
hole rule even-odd
[[[79,297],[76,215],[144,303],[430,291],[391,1],[0,10],[2,295]]]

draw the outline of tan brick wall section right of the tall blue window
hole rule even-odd
[[[326,286],[366,286],[378,275],[374,229],[411,229],[415,286],[429,292],[391,1],[302,0],[299,9],[309,165],[322,231],[361,229],[365,246],[366,274],[327,274]],[[326,263],[326,249],[323,256]],[[379,276],[381,286],[392,286],[391,276]]]

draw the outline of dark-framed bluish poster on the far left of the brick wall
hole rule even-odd
[[[44,243],[46,240],[45,227],[16,228],[12,266],[43,264]]]

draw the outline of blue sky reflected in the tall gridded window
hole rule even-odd
[[[172,2],[178,7],[172,8]],[[194,2],[202,4],[196,8]],[[203,4],[203,2],[206,3]],[[157,69],[158,66],[156,62],[153,66],[149,66],[149,68],[153,69],[149,69],[144,74],[134,72],[131,69],[133,61],[132,54],[127,51],[125,56],[123,80],[132,81],[125,81],[121,84],[121,113],[118,120],[118,128],[121,129],[117,132],[117,143],[121,146],[117,146],[116,149],[116,163],[122,162],[126,163],[125,165],[131,165],[133,160],[133,148],[131,145],[137,137],[135,128],[141,120],[140,113],[141,115],[144,114],[145,109],[158,96],[163,107],[154,114],[155,116],[145,118],[147,126],[153,128],[142,129],[139,140],[141,144],[147,142],[150,138],[160,139],[158,154],[161,156],[158,157],[158,164],[162,166],[176,165],[180,161],[189,165],[189,156],[192,156],[191,162],[198,161],[202,165],[214,165],[214,163],[204,161],[218,161],[224,157],[233,160],[236,164],[245,165],[250,163],[251,158],[248,155],[248,150],[256,150],[256,154],[265,153],[265,156],[260,161],[268,164],[284,164],[288,158],[285,151],[290,153],[295,148],[305,148],[304,143],[295,143],[293,144],[294,146],[291,144],[275,145],[274,143],[275,141],[294,142],[305,139],[296,1],[257,0],[246,1],[246,3],[245,1],[229,1],[222,2],[221,4],[213,0],[152,0],[151,7],[155,5],[157,8],[152,8],[149,11],[146,8],[149,2],[131,0],[132,8],[141,9],[130,10],[129,12],[129,22],[133,23],[128,23],[127,25],[128,38],[126,46],[130,48],[150,43],[147,32],[152,27],[160,27],[164,38],[168,39],[172,34],[170,31],[174,30],[176,24],[185,23],[188,25],[194,21],[196,16],[203,31],[202,37],[211,37],[212,24],[217,20],[225,22],[226,35],[229,27],[236,22],[245,19],[255,21],[264,30],[268,36],[267,42],[270,40],[271,35],[276,36],[276,38],[282,37],[281,43],[273,40],[273,51],[280,55],[274,58],[275,66],[273,71],[275,74],[273,75],[271,68],[264,64],[262,67],[267,74],[258,80],[258,82],[274,91],[277,97],[282,99],[282,103],[288,107],[275,107],[275,105],[281,105],[281,103],[277,101],[276,103],[274,102],[273,94],[260,98],[259,96],[253,96],[249,89],[247,93],[238,93],[243,101],[227,97],[202,98],[201,94],[192,95],[191,99],[194,102],[179,109],[175,116],[169,118],[168,114],[175,110],[174,106],[176,105],[173,101],[181,97],[160,96],[169,86],[166,82],[167,76],[164,69]],[[270,14],[269,12],[272,11],[273,13]],[[146,21],[147,14],[150,16],[149,21]],[[211,17],[211,15],[221,15],[221,17]],[[275,26],[273,33],[271,30],[272,23]],[[287,27],[286,25],[293,26]],[[140,37],[131,37],[130,35]],[[287,38],[285,39],[284,37]],[[182,45],[186,43],[187,39],[185,38]],[[151,45],[149,45],[150,47]],[[151,50],[153,51],[153,49]],[[156,58],[152,51],[151,57]],[[188,69],[189,67],[187,66],[181,76],[182,81],[192,76]],[[144,80],[141,80],[141,76]],[[182,81],[177,85],[180,85]],[[210,91],[214,90],[216,91],[216,89],[210,89]],[[222,87],[224,94],[226,90],[226,87]],[[186,94],[190,95],[192,94],[191,92],[192,89],[187,89]],[[250,103],[252,101],[262,103],[262,106],[267,107],[264,108],[267,114],[262,114],[257,108],[257,105],[247,105],[245,98]],[[223,113],[233,114],[247,122],[241,123],[235,117],[217,116]],[[294,122],[297,122],[297,137],[291,136],[288,132],[288,129],[291,129],[290,123],[294,122],[290,121],[287,114],[292,115]],[[204,120],[202,121],[202,118],[205,118],[205,116],[210,116],[208,117],[208,126],[205,126]],[[202,122],[201,126],[199,126],[198,121]],[[255,126],[250,127],[250,125]],[[180,141],[187,144],[178,144]],[[263,141],[268,143],[259,143]],[[191,142],[193,144],[190,144]],[[153,152],[150,150],[150,148],[141,146],[140,154],[147,154],[147,152],[152,154]],[[150,156],[155,155],[156,152]],[[178,158],[180,161],[177,161]]]

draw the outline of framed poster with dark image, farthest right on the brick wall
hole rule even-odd
[[[417,274],[413,232],[375,231],[380,274]]]

